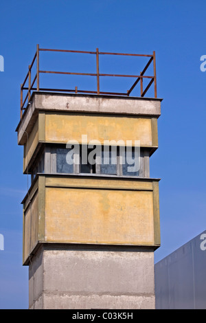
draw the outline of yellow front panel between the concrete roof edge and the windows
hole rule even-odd
[[[135,118],[108,115],[73,115],[64,113],[45,114],[45,141],[82,143],[99,140],[140,140],[141,146],[152,146],[152,125],[150,118]]]

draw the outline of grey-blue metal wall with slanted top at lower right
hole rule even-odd
[[[206,309],[203,234],[206,231],[155,265],[156,309]]]

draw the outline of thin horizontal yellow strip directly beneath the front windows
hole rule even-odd
[[[152,181],[84,178],[84,177],[46,177],[46,186],[59,186],[67,188],[113,188],[127,190],[153,190]]]

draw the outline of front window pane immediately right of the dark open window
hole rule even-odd
[[[113,158],[112,158],[113,157]],[[102,164],[100,165],[101,174],[117,175],[117,153],[102,151]]]

